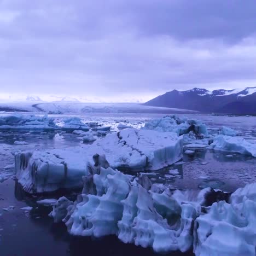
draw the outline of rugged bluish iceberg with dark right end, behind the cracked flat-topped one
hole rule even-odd
[[[199,120],[179,118],[176,115],[167,115],[160,119],[150,120],[142,129],[160,132],[176,132],[184,135],[192,131],[197,137],[208,135],[207,127]]]

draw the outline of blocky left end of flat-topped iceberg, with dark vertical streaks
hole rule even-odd
[[[15,154],[16,178],[28,193],[81,188],[87,164],[78,148]]]

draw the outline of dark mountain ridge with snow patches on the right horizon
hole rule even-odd
[[[187,91],[173,90],[144,104],[191,109],[204,113],[256,114],[256,87],[214,91],[200,88]]]

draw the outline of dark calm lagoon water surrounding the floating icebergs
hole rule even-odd
[[[60,117],[59,117],[60,118]],[[139,127],[151,117],[89,117],[88,120],[100,121],[112,125],[113,130],[119,123]],[[197,117],[198,118],[198,117]],[[223,124],[239,130],[243,136],[254,139],[255,119],[241,117],[226,118],[205,116],[205,122],[215,129]],[[201,118],[201,119],[203,119]],[[95,120],[96,119],[96,120]],[[124,121],[125,119],[125,121]],[[247,121],[248,120],[248,121]],[[215,123],[214,123],[215,122]],[[51,132],[0,133],[0,175],[14,173],[13,153],[18,150],[50,149],[78,146],[81,140],[77,135]],[[14,145],[14,141],[26,141],[27,145]],[[194,156],[184,155],[182,164],[164,168],[157,173],[149,173],[153,183],[171,185],[179,189],[198,189],[208,185],[226,191],[234,191],[246,183],[256,182],[256,160],[248,156],[211,150],[197,150]],[[170,175],[170,170],[176,170]],[[65,194],[74,198],[79,191],[60,191],[59,194],[31,196],[27,195],[15,181],[14,176],[0,179],[0,255],[155,255],[151,249],[125,245],[117,237],[110,236],[100,240],[90,237],[72,237],[63,224],[54,224],[48,217],[49,207],[38,207],[36,201],[43,198],[59,198]],[[3,208],[14,206],[13,210]],[[32,206],[29,213],[20,208]],[[193,255],[173,252],[168,255]]]

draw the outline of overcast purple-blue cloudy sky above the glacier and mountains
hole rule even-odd
[[[256,86],[256,1],[0,0],[0,86],[106,101]]]

